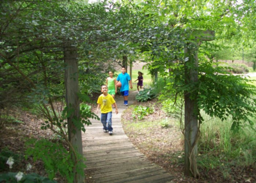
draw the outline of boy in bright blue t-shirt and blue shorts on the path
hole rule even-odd
[[[116,81],[120,81],[122,86],[120,88],[120,92],[124,97],[124,105],[128,106],[128,96],[129,96],[129,84],[132,89],[132,81],[130,75],[126,72],[125,67],[122,67],[122,73],[118,75]]]

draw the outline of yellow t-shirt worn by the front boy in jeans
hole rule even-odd
[[[109,113],[112,111],[112,104],[114,104],[116,101],[113,99],[111,95],[107,95],[106,97],[101,94],[100,97],[97,100],[97,104],[100,104],[100,113]]]

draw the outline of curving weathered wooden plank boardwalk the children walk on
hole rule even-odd
[[[129,104],[136,92],[130,92]],[[173,176],[132,145],[121,123],[127,108],[121,96],[116,96],[118,115],[113,109],[113,135],[104,133],[102,123],[92,120],[83,134],[83,154],[86,157],[86,182],[172,182]],[[100,114],[98,114],[100,115]]]

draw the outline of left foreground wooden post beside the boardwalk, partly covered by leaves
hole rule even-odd
[[[67,118],[68,121],[68,139],[74,149],[83,156],[82,146],[82,134],[81,130],[77,130],[76,126],[72,122],[73,118],[79,118],[80,102],[77,93],[79,92],[78,86],[78,63],[77,63],[77,50],[72,46],[71,42],[67,43],[64,51],[65,56],[65,89],[66,89],[66,103],[68,109],[74,109],[74,113]],[[75,160],[76,155],[72,154],[72,158]],[[77,159],[76,159],[77,161]],[[75,162],[76,162],[75,161]],[[83,161],[83,159],[79,159]],[[76,168],[74,168],[74,182],[84,182],[84,175],[77,174]]]

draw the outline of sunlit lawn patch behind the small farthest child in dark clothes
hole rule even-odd
[[[136,79],[138,79],[138,72],[142,72],[143,73],[143,86],[145,86],[146,84],[149,85],[151,83],[151,76],[150,74],[148,74],[148,70],[147,69],[132,69],[132,90],[131,91],[135,91],[137,90],[137,83],[138,81],[134,82]],[[117,74],[120,74],[121,72],[118,72]],[[128,70],[128,74],[129,74],[129,70]]]

